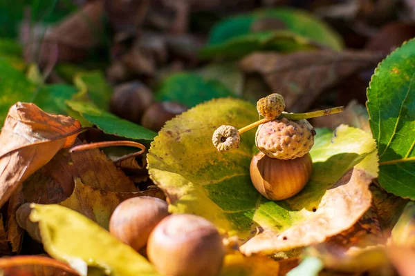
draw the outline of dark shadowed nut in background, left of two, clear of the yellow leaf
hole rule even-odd
[[[110,110],[122,119],[140,124],[142,114],[153,101],[153,93],[145,84],[131,81],[116,86],[111,97]]]

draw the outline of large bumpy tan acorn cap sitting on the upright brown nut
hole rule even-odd
[[[277,159],[295,159],[306,155],[314,145],[315,130],[307,120],[275,119],[258,127],[257,148]]]

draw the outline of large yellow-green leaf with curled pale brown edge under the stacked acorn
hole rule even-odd
[[[295,197],[269,201],[255,190],[249,175],[255,130],[243,133],[239,148],[229,152],[218,152],[211,141],[219,126],[241,128],[257,118],[251,103],[215,99],[167,122],[151,143],[147,161],[151,179],[172,200],[169,210],[201,215],[245,239],[261,227],[264,233],[241,248],[248,255],[322,242],[365,213],[371,204],[368,186],[378,169],[369,134],[347,126],[334,133],[317,130],[311,180]]]

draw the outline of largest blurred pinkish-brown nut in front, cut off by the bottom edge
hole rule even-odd
[[[222,268],[225,248],[216,227],[203,217],[170,215],[154,228],[147,256],[169,276],[214,276]]]

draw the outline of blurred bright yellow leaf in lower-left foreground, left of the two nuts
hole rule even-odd
[[[86,265],[111,275],[158,275],[149,262],[90,219],[63,206],[31,205],[46,252],[86,275]],[[83,269],[80,269],[80,267]]]

